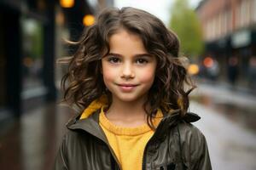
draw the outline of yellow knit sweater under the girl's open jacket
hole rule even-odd
[[[162,112],[159,110],[153,120],[155,127],[159,124],[162,116]],[[108,121],[103,109],[99,122],[122,170],[142,169],[145,145],[154,134],[148,124],[145,123],[139,127],[119,127]]]

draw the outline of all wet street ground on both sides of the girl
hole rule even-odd
[[[207,138],[213,169],[255,170],[255,97],[216,84],[198,86],[189,110],[201,116],[195,126]],[[52,169],[71,116],[67,107],[47,104],[9,122],[0,135],[0,169]]]

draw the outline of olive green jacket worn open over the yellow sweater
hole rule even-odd
[[[99,112],[67,123],[68,132],[55,158],[55,170],[121,169],[117,157],[99,125]],[[190,122],[199,120],[194,113],[181,117],[168,114],[156,128],[143,153],[143,170],[211,170],[207,141]],[[131,148],[132,151],[132,148]],[[129,160],[127,160],[129,161]]]

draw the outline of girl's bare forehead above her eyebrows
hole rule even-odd
[[[109,48],[111,52],[133,51],[137,53],[145,53],[147,50],[144,47],[143,40],[137,34],[125,29],[116,31],[109,37]]]

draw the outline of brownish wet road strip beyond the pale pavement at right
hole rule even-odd
[[[241,93],[236,88],[216,84],[200,84],[191,99],[256,134],[255,94]]]

